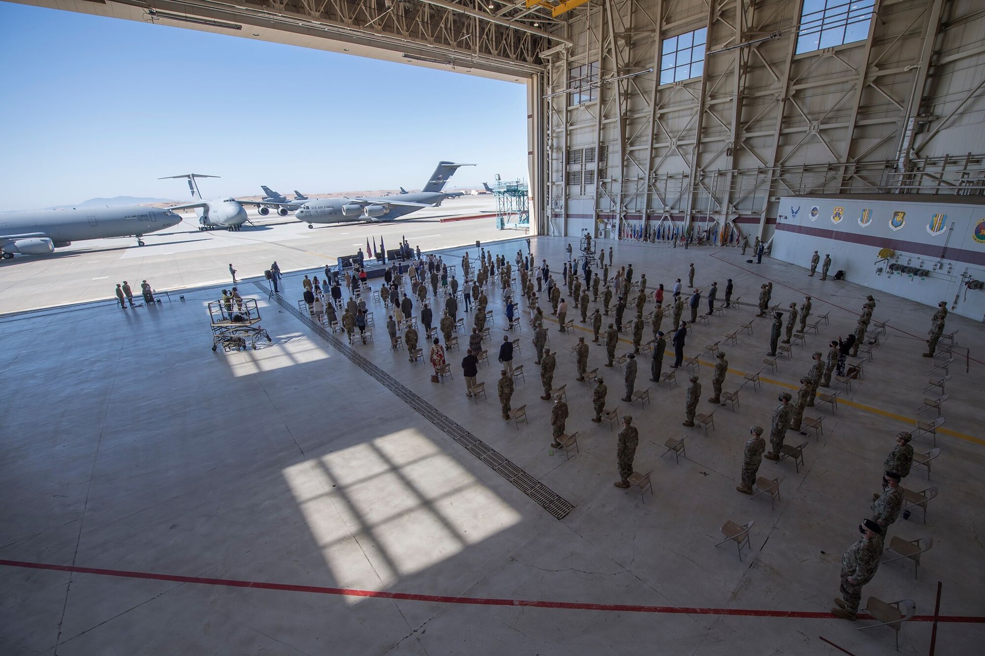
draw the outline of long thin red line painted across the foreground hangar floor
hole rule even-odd
[[[369,597],[375,599],[395,599],[400,601],[420,601],[436,604],[464,604],[472,606],[525,606],[528,608],[549,608],[566,611],[608,611],[617,613],[663,613],[679,615],[722,615],[754,618],[792,618],[800,620],[831,620],[830,613],[813,613],[805,611],[767,611],[758,609],[735,608],[688,608],[679,606],[637,606],[630,604],[589,604],[583,602],[553,602],[528,599],[495,599],[483,597],[445,597],[441,595],[419,595],[408,592],[386,592],[382,590],[359,590],[352,588],[329,588],[317,585],[293,585],[289,583],[268,583],[263,581],[241,581],[230,578],[204,578],[201,576],[181,576],[176,574],[161,574],[146,571],[127,571],[124,569],[99,569],[96,567],[79,567],[75,565],[59,565],[47,562],[26,562],[24,560],[3,560],[0,565],[8,567],[24,567],[28,569],[50,569],[54,571],[70,571],[81,574],[97,574],[99,576],[119,576],[122,578],[143,578],[155,581],[171,581],[175,583],[197,583],[200,585],[218,585],[230,588],[256,588],[260,590],[280,590],[285,592],[306,592],[320,595],[340,595],[345,597]],[[860,615],[859,618],[867,619]],[[948,623],[985,623],[985,617],[977,616],[939,616],[918,615],[913,622],[948,622]]]

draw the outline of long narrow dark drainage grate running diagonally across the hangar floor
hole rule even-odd
[[[268,292],[267,288],[263,285],[260,285],[259,283],[254,284],[262,292]],[[400,397],[411,408],[420,413],[425,419],[427,419],[428,422],[440,428],[446,435],[458,442],[469,453],[489,465],[489,467],[496,474],[511,483],[520,492],[523,492],[530,498],[534,499],[534,501],[543,506],[552,515],[558,519],[562,519],[574,507],[569,501],[564,499],[564,497],[560,496],[558,492],[554,492],[550,488],[547,488],[540,481],[530,476],[530,474],[517,467],[507,458],[504,458],[502,454],[493,449],[492,446],[473,435],[465,429],[465,427],[459,426],[450,417],[427,403],[427,401],[415,394],[410,388],[401,384],[400,381],[391,376],[389,373],[379,368],[371,361],[363,358],[359,352],[350,347],[348,344],[345,344],[339,338],[335,337],[331,332],[326,330],[324,326],[311,321],[311,319],[298,310],[296,306],[284,300],[284,298],[281,298],[279,295],[275,295],[273,298],[278,302],[278,304],[281,305],[282,308],[293,314],[298,321],[313,330],[319,337],[334,347],[336,351],[341,353],[350,361],[353,361],[363,371],[375,378],[380,384]]]

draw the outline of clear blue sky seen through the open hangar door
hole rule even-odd
[[[0,210],[527,174],[521,84],[6,2],[0,62]]]

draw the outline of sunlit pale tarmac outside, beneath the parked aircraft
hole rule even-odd
[[[0,314],[66,303],[112,298],[116,283],[128,281],[139,293],[147,280],[156,290],[181,290],[230,283],[229,265],[238,280],[262,276],[276,260],[284,272],[334,265],[336,258],[366,248],[366,238],[379,246],[382,237],[394,248],[402,237],[422,250],[483,243],[522,235],[496,230],[495,219],[439,223],[441,219],[495,211],[493,196],[449,199],[441,207],[421,210],[410,218],[380,224],[315,226],[293,216],[260,217],[251,211],[242,230],[198,230],[194,215],[169,230],[144,236],[80,241],[50,255],[18,255],[0,261]]]

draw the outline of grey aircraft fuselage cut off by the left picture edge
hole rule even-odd
[[[0,252],[7,259],[44,255],[73,241],[117,236],[136,236],[143,246],[143,235],[179,223],[169,210],[139,206],[14,212],[0,215]]]

